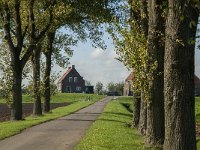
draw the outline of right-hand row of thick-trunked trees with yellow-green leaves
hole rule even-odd
[[[150,145],[195,150],[194,48],[199,1],[129,0],[110,27],[133,69],[137,127]],[[116,31],[118,31],[116,33]]]

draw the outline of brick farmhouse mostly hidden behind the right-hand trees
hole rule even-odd
[[[195,96],[200,96],[200,79],[194,75]],[[133,74],[130,73],[124,83],[124,96],[133,95]]]

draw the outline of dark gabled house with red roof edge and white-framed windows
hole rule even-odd
[[[94,88],[85,86],[85,80],[75,69],[75,65],[72,65],[58,80],[58,91],[61,93],[94,93]]]

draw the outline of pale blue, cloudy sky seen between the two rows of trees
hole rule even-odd
[[[115,58],[117,54],[114,50],[112,39],[105,33],[103,39],[106,42],[107,49],[92,47],[91,41],[79,43],[73,47],[74,54],[70,58],[70,65],[75,65],[79,74],[92,85],[96,85],[98,81],[102,82],[104,88],[109,82],[122,82],[130,74],[130,71]],[[198,42],[199,43],[199,42]],[[55,68],[54,68],[55,69]],[[67,68],[56,66],[56,70],[60,71],[60,76],[64,74]],[[195,74],[200,77],[200,50],[195,50]]]

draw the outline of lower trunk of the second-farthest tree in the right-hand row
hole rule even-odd
[[[144,99],[144,92],[142,92],[141,105],[140,105],[139,132],[142,135],[146,135],[146,129],[147,129],[147,103]]]

